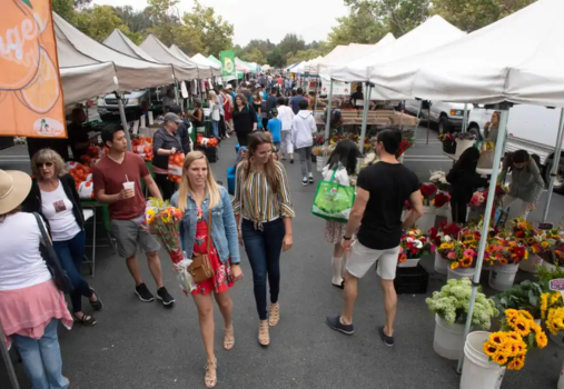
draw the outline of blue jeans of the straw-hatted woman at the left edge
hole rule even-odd
[[[51,319],[41,339],[31,339],[21,335],[12,335],[13,346],[23,361],[26,375],[33,389],[67,389],[62,377],[61,349],[57,336],[59,320]]]

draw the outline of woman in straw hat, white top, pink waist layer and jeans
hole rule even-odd
[[[36,217],[21,212],[31,178],[0,170],[0,326],[8,349],[21,355],[34,389],[66,389],[57,336],[61,320],[70,329],[65,296],[57,289],[39,250],[41,232]]]

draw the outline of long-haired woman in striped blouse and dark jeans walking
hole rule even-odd
[[[248,157],[237,166],[235,199],[237,225],[243,217],[239,245],[253,269],[255,300],[260,326],[258,341],[270,343],[269,327],[280,320],[280,251],[291,248],[291,205],[288,177],[284,166],[273,159],[271,142],[264,132],[248,138]],[[270,309],[266,310],[266,279],[270,286]]]

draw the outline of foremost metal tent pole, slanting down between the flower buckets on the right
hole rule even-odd
[[[492,169],[492,177],[489,178],[489,189],[487,193],[487,202],[486,202],[486,211],[484,213],[484,220],[482,225],[482,237],[487,237],[489,233],[489,221],[492,219],[492,209],[494,208],[494,197],[495,197],[495,187],[497,184],[497,176],[499,173],[499,161],[502,160],[502,154],[505,149],[505,132],[507,131],[507,119],[509,118],[509,107],[507,103],[501,104],[502,117],[499,119],[499,129],[504,129],[503,131],[497,132],[497,141],[494,153],[494,168]],[[466,326],[464,327],[464,340],[466,341],[466,337],[469,333],[469,329],[472,327],[472,316],[474,315],[474,302],[476,301],[476,293],[479,287],[479,276],[482,273],[482,263],[484,262],[484,252],[486,250],[487,239],[479,240],[478,247],[478,258],[476,260],[476,270],[474,271],[474,277],[472,279],[472,296],[469,300],[468,307],[468,316],[466,318]],[[458,367],[456,371],[459,373],[462,371],[462,365],[464,361],[464,351],[461,352],[461,358],[458,359]]]

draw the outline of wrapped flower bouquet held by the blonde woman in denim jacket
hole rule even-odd
[[[186,257],[180,248],[181,219],[182,212],[178,208],[171,207],[168,201],[149,198],[142,227],[149,233],[159,238],[172,263],[180,269],[178,280],[185,293],[188,293],[194,290],[196,285],[186,269],[191,260]]]

